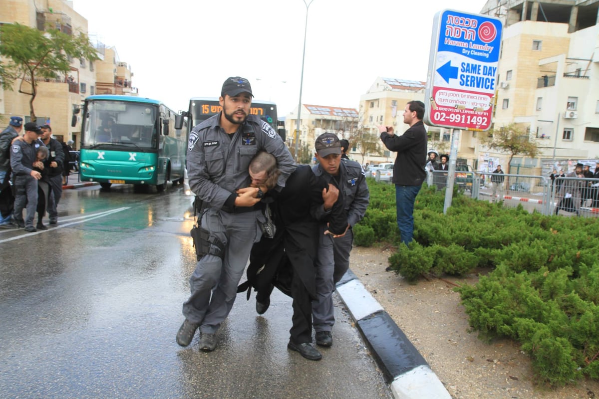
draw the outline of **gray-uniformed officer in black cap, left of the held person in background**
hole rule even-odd
[[[37,149],[44,145],[39,140],[42,131],[34,122],[25,124],[23,140],[15,140],[10,149],[10,166],[13,168],[13,185],[15,191],[13,220],[19,227],[25,227],[27,232],[37,232],[34,227],[35,212],[37,211],[37,181],[41,173],[33,170],[37,162]],[[43,167],[43,165],[42,165]],[[27,216],[23,221],[23,208],[27,205]]]

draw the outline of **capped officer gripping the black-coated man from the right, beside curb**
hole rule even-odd
[[[332,235],[326,225],[320,227],[320,243],[316,261],[316,300],[312,301],[312,319],[316,330],[316,344],[332,345],[331,330],[335,324],[332,293],[335,284],[349,268],[349,252],[352,250],[352,226],[362,220],[368,207],[370,194],[362,166],[355,161],[341,159],[341,144],[337,135],[323,133],[316,138],[318,164],[312,170],[317,178],[339,189],[343,206],[347,211],[347,229],[344,234]],[[325,212],[323,208],[320,212]],[[322,220],[321,215],[317,215]]]

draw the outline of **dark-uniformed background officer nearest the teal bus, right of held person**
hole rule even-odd
[[[41,141],[44,142],[48,150],[50,150],[50,156],[44,162],[47,173],[44,173],[44,179],[50,185],[50,195],[48,197],[48,216],[50,218],[50,224],[58,223],[58,211],[56,206],[62,196],[62,171],[63,168],[68,168],[68,163],[65,163],[65,153],[62,150],[62,144],[55,138],[52,137],[52,127],[49,124],[44,124],[41,127],[43,135],[41,135]],[[38,229],[44,229],[44,224],[41,221],[38,222]],[[45,229],[44,229],[45,230]]]

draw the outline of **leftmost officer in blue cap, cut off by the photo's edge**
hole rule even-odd
[[[0,133],[0,229],[17,227],[11,221],[14,196],[10,187],[10,145],[23,129],[22,117],[10,117],[8,126]]]

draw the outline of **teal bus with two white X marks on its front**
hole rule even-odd
[[[187,129],[158,100],[96,95],[85,99],[81,121],[81,181],[155,185],[183,183]],[[182,121],[185,123],[185,120]]]

